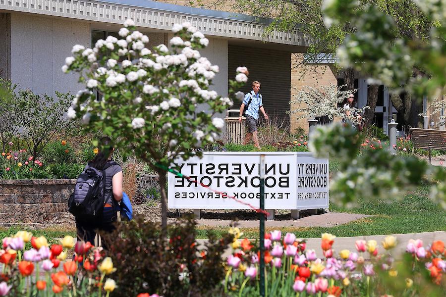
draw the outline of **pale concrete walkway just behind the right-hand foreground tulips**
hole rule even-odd
[[[284,234],[282,234],[282,237]],[[384,248],[382,246],[382,241],[388,235],[370,235],[370,236],[354,236],[354,237],[337,237],[335,239],[335,244],[333,248],[335,249],[335,253],[337,253],[342,249],[348,249],[350,251],[356,251],[355,242],[357,240],[376,240],[378,243],[378,251],[379,253],[384,252]],[[445,231],[435,231],[435,232],[423,232],[423,233],[410,233],[410,234],[395,234],[393,235],[397,239],[397,246],[393,248],[394,255],[400,255],[406,249],[407,243],[410,239],[421,239],[423,241],[424,247],[430,245],[433,241],[441,240],[446,243],[446,232]],[[207,242],[207,240],[197,240],[200,245],[203,245]],[[307,240],[307,249],[316,250],[316,254],[319,257],[323,257],[322,249],[321,249],[321,239],[320,238],[310,238]],[[230,255],[230,248],[228,248],[223,257],[228,257]],[[367,253],[366,253],[367,254]]]

